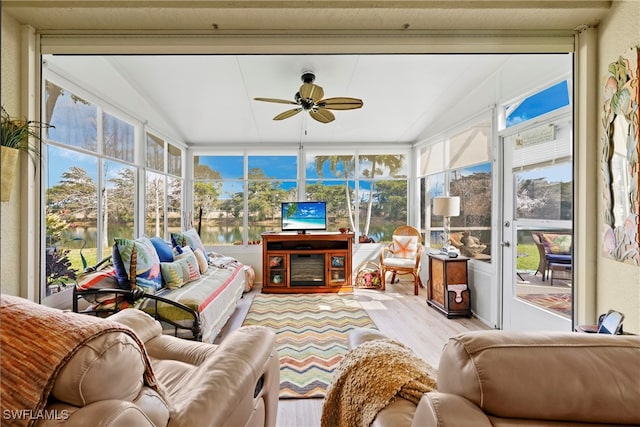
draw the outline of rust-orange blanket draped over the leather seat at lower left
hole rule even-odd
[[[0,296],[0,401],[3,414],[20,414],[11,425],[33,425],[66,361],[87,341],[112,331],[129,334],[140,345],[147,365],[145,384],[158,390],[144,346],[128,327]]]

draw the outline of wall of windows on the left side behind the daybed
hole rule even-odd
[[[149,170],[140,207],[137,177],[145,165],[136,159],[135,135],[143,124],[49,80],[44,105],[44,117],[54,126],[44,138],[43,292],[49,295],[82,271],[81,250],[87,265],[93,265],[111,254],[115,237],[139,236],[136,218],[141,213],[148,235],[164,237],[168,227],[179,229],[183,177],[182,149],[147,134]]]

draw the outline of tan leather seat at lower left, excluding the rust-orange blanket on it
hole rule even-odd
[[[243,327],[212,345],[163,335],[140,310],[109,319],[144,343],[160,393],[143,384],[140,346],[110,332],[65,364],[51,393],[59,402],[46,408],[57,419],[37,426],[275,426],[280,372],[270,329]]]

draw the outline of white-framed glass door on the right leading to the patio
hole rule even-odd
[[[570,115],[501,135],[503,328],[572,327]]]

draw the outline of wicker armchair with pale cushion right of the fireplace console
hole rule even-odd
[[[409,248],[408,242],[402,242],[402,237],[417,237],[415,251],[413,243]],[[409,225],[403,225],[393,232],[393,241],[380,250],[380,269],[382,271],[382,289],[385,289],[385,276],[388,271],[392,274],[391,283],[396,280],[397,274],[411,274],[413,276],[414,294],[418,295],[418,287],[422,287],[420,279],[420,263],[422,260],[422,235],[418,229]]]

